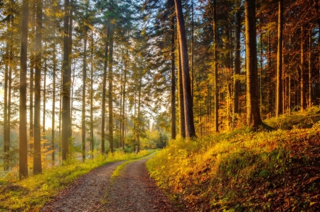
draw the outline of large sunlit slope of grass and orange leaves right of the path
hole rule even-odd
[[[319,211],[320,108],[265,123],[274,130],[171,140],[151,177],[187,211]]]

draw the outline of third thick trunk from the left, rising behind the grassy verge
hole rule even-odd
[[[62,132],[61,132],[61,143],[62,143],[62,160],[67,160],[68,157],[68,140],[70,138],[70,124],[71,124],[71,113],[70,113],[70,84],[71,84],[71,73],[69,64],[69,0],[65,0],[65,17],[63,20],[63,72],[62,72]]]

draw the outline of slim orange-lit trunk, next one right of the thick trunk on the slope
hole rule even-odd
[[[276,98],[276,117],[282,111],[282,28],[283,28],[283,0],[278,1],[278,51],[277,51],[277,98]]]

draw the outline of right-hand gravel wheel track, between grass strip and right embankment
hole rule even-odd
[[[149,158],[130,162],[110,184],[107,203],[102,211],[107,212],[173,212],[173,204],[159,190],[146,169]]]

